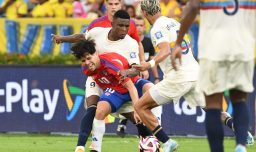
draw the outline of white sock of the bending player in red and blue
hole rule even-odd
[[[92,127],[92,150],[101,152],[102,138],[105,133],[105,121],[94,118]]]

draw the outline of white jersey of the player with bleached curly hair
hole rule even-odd
[[[174,47],[179,29],[180,24],[176,20],[165,16],[158,18],[150,32],[156,52],[159,51],[157,45],[162,42],[170,43],[171,50]],[[185,36],[184,41],[182,42],[182,49],[182,64],[178,71],[173,69],[169,56],[162,61],[159,66],[165,77],[171,77],[171,79],[177,83],[184,81],[196,81],[198,79],[199,66],[192,54],[190,42],[187,36]]]

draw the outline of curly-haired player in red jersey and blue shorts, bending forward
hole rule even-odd
[[[148,90],[153,84],[138,76],[122,77],[120,72],[128,73],[129,70],[135,70],[129,69],[128,60],[114,52],[99,55],[96,52],[95,43],[90,39],[76,43],[71,50],[73,55],[81,60],[84,74],[91,76],[104,91],[100,96],[93,122],[93,128],[97,130],[97,137],[100,137],[97,138],[98,142],[102,142],[105,132],[104,119],[110,113],[122,114],[134,124],[139,122],[137,115],[133,114],[133,107],[128,103],[132,101],[134,104],[142,92]],[[140,136],[151,135],[151,132],[141,123],[137,123],[136,127]],[[84,149],[79,148],[78,150],[84,151]],[[101,151],[101,147],[97,151]]]

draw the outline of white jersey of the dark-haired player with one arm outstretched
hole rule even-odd
[[[124,56],[130,64],[139,64],[138,42],[126,35],[124,39],[110,41],[108,33],[111,28],[95,27],[85,33],[85,38],[91,38],[96,43],[96,50],[101,54],[104,52],[116,52]]]

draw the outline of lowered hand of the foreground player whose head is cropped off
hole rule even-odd
[[[178,65],[176,60],[179,59],[179,64],[181,64],[182,48],[180,45],[175,45],[173,51],[171,52],[171,64],[174,70],[178,70]]]

